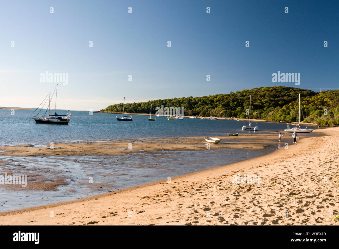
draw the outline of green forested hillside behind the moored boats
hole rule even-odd
[[[271,121],[297,121],[301,95],[301,120],[327,125],[339,124],[339,90],[313,92],[294,87],[260,87],[251,90],[202,97],[181,97],[166,100],[125,104],[125,112],[152,113],[157,106],[184,107],[185,115],[246,118],[251,103],[251,118]],[[123,104],[106,107],[107,112],[122,112]],[[327,112],[326,110],[327,109]]]

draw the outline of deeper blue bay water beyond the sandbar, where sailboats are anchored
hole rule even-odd
[[[110,113],[72,111],[68,125],[36,124],[28,117],[33,111],[0,109],[0,145],[37,144],[51,142],[102,141],[118,139],[155,139],[166,137],[213,137],[226,133],[251,133],[241,131],[243,121],[200,120],[184,118],[168,121],[166,117],[156,117],[148,121],[146,115],[132,115],[132,122],[116,120]],[[58,114],[67,111],[57,110]],[[248,124],[248,122],[247,122]],[[252,122],[254,125],[255,122]],[[286,124],[258,122],[260,130],[283,130]],[[261,131],[256,131],[260,133]]]

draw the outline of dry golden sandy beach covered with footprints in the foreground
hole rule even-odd
[[[288,148],[91,199],[0,214],[1,225],[337,225],[339,128]],[[260,176],[260,184],[240,182]]]

